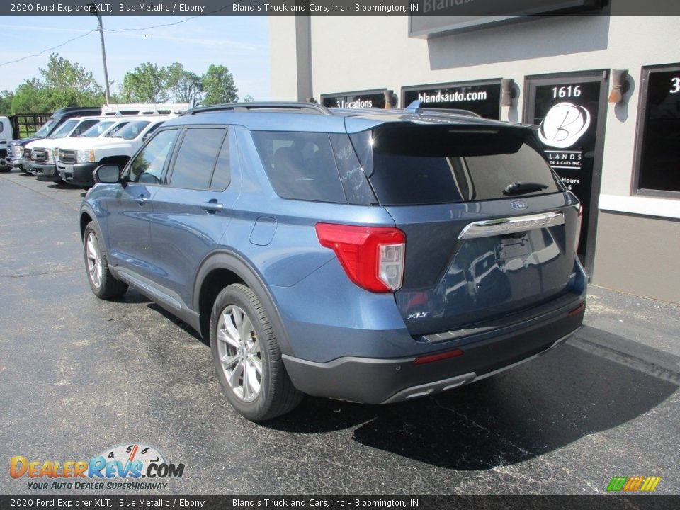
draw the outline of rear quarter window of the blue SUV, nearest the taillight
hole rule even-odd
[[[278,196],[346,203],[327,133],[257,131],[253,140]]]

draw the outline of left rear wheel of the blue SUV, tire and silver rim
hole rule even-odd
[[[292,411],[302,400],[288,378],[276,334],[255,293],[234,284],[215,299],[210,348],[229,403],[251,421]]]

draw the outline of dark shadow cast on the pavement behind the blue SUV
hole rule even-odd
[[[295,412],[265,426],[298,433],[357,426],[353,438],[365,446],[455,470],[487,470],[625,424],[677,389],[566,344],[436,397],[387,406],[307,397]]]

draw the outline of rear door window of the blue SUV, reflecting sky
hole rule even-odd
[[[210,188],[212,171],[215,169],[226,133],[227,131],[221,128],[186,130],[173,165],[170,186],[193,189]]]

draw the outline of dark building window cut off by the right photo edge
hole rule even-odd
[[[680,198],[680,64],[642,69],[638,193]]]

